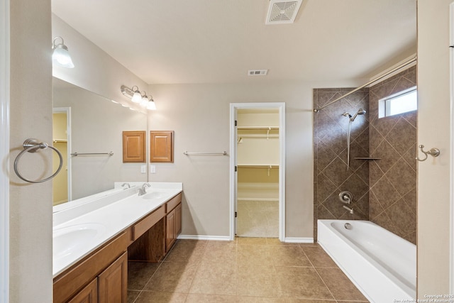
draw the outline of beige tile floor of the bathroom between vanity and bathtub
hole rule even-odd
[[[128,302],[368,302],[318,244],[179,240],[160,263],[128,263]]]

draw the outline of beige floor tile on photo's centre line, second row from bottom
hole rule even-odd
[[[191,294],[236,294],[236,266],[201,263],[192,281]]]

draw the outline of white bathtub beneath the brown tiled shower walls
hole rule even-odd
[[[414,244],[370,221],[318,220],[317,228],[320,246],[370,302],[416,297]]]

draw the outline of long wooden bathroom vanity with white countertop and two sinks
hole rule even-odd
[[[150,184],[54,213],[53,302],[126,302],[128,260],[165,257],[181,231],[182,184]]]

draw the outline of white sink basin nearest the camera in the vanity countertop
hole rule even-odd
[[[53,258],[65,258],[77,250],[84,248],[87,243],[99,238],[106,230],[102,224],[76,224],[53,230]]]

